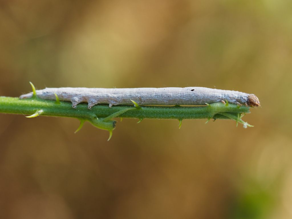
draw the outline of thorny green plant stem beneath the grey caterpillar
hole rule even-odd
[[[242,121],[240,116],[243,113],[249,113],[249,107],[213,103],[200,107],[118,105],[110,108],[108,105],[98,104],[90,110],[85,103],[81,103],[77,106],[77,109],[73,109],[71,102],[42,100],[37,97],[23,100],[13,97],[0,97],[0,113],[25,114],[31,115],[30,117],[39,115],[73,117],[81,121],[79,129],[84,121],[89,121],[94,126],[111,133],[116,123],[112,120],[114,117],[140,120],[178,119],[179,121],[183,119],[233,119],[246,126],[248,124]]]

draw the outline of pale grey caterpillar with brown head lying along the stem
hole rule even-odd
[[[204,87],[168,87],[168,88],[45,88],[37,90],[41,99],[55,100],[55,94],[62,101],[71,101],[76,108],[81,102],[88,103],[88,109],[96,104],[133,105],[206,105],[228,101],[234,104],[259,106],[256,95],[239,91],[227,91]],[[20,96],[20,99],[31,98],[33,93]]]

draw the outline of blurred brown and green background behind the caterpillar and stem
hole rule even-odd
[[[292,218],[292,1],[0,1],[0,95],[45,87],[255,93],[234,121],[0,114],[0,218]]]

